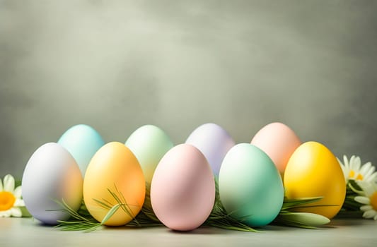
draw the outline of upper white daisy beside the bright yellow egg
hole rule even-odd
[[[377,171],[375,172],[376,167],[373,167],[371,162],[366,162],[361,165],[360,157],[355,155],[352,155],[349,160],[346,155],[343,155],[344,164],[338,158],[337,161],[339,162],[340,167],[342,167],[346,183],[349,180],[377,183]]]

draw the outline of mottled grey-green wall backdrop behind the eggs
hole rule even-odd
[[[0,0],[0,176],[76,123],[124,142],[282,121],[377,164],[377,1]],[[1,175],[3,174],[3,175]]]

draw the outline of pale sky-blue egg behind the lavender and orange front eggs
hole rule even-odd
[[[105,142],[94,128],[79,124],[69,128],[57,141],[76,159],[81,174],[84,175],[91,158]]]

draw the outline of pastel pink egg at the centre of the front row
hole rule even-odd
[[[190,231],[209,217],[215,192],[214,175],[202,152],[180,144],[163,156],[154,172],[153,212],[166,227]]]

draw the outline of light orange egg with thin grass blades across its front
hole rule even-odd
[[[103,145],[93,156],[83,180],[83,200],[91,215],[102,222],[109,208],[124,198],[127,212],[120,208],[105,225],[122,226],[130,222],[141,210],[145,198],[145,179],[135,155],[123,143]]]

